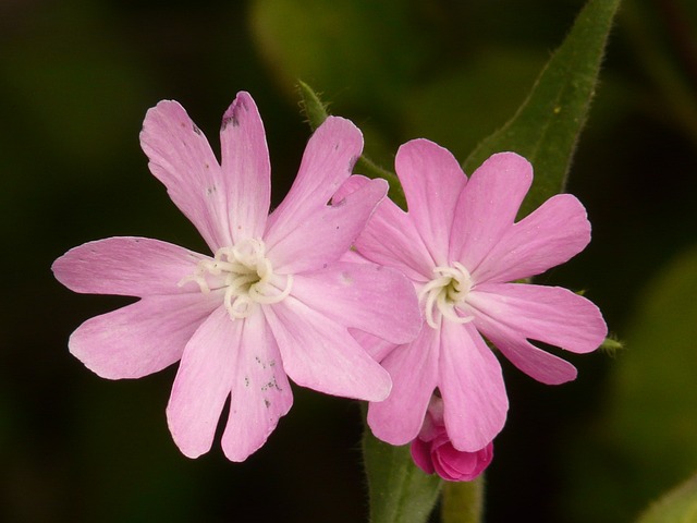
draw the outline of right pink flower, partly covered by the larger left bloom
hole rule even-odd
[[[607,335],[600,311],[585,297],[515,282],[583,251],[590,224],[568,194],[514,222],[533,168],[513,153],[492,156],[467,180],[447,149],[415,139],[400,148],[395,168],[408,212],[384,199],[355,247],[413,281],[426,325],[398,346],[356,332],[393,382],[386,401],[370,404],[368,424],[387,442],[409,442],[438,388],[453,447],[477,452],[508,411],[501,366],[485,337],[533,378],[562,384],[576,377],[575,367],[528,339],[586,353]],[[353,177],[338,197],[367,183]]]

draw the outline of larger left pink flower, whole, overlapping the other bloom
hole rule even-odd
[[[70,351],[110,379],[180,361],[167,408],[174,441],[187,457],[207,452],[230,398],[222,448],[243,461],[290,410],[289,377],[330,394],[383,400],[388,373],[347,329],[404,343],[420,313],[399,272],[339,260],[387,191],[377,180],[327,205],[360,154],[355,125],[330,118],[317,130],[270,216],[269,155],[248,94],[224,113],[220,141],[221,163],[175,101],[150,109],[140,134],[150,171],[212,257],[147,238],[109,238],[69,251],[53,271],[76,292],[140,297],[85,321]]]

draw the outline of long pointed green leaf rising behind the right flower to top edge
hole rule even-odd
[[[620,0],[586,4],[523,106],[465,161],[465,172],[472,172],[494,153],[512,150],[526,157],[535,167],[535,182],[522,216],[564,187],[619,4]]]

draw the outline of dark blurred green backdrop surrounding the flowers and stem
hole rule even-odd
[[[250,92],[278,203],[309,135],[295,78],[388,168],[414,137],[464,160],[582,5],[0,0],[0,520],[366,521],[355,402],[296,389],[245,463],[218,442],[188,460],[164,418],[175,368],[108,381],[68,352],[83,320],[127,300],[73,294],[50,264],[110,235],[205,250],[139,149],[160,99],[182,102],[216,148],[222,112]],[[561,387],[504,364],[489,522],[633,521],[697,470],[696,34],[692,0],[624,2],[567,186],[594,241],[541,281],[585,290],[626,349],[570,355],[579,378]]]

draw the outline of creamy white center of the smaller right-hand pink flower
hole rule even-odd
[[[458,314],[458,307],[464,305],[472,289],[472,277],[467,269],[455,262],[452,267],[435,267],[433,276],[418,294],[424,303],[426,323],[437,329],[440,318],[457,324],[475,319],[474,316]]]

